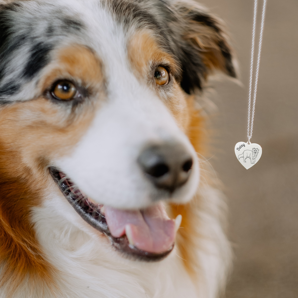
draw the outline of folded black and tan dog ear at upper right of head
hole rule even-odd
[[[182,89],[188,94],[201,89],[215,69],[235,78],[233,53],[222,21],[195,2],[174,5],[179,23],[174,36],[183,72]]]

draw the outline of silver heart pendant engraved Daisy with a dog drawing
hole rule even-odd
[[[235,145],[235,154],[240,164],[248,170],[259,161],[262,155],[262,147],[255,143],[238,142]]]

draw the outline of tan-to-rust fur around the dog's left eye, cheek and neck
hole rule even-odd
[[[42,90],[66,74],[96,90],[101,68],[88,49],[72,47],[57,55],[54,67],[46,69],[50,71],[40,82]],[[67,115],[65,108],[42,96],[0,109],[0,265],[4,266],[0,287],[6,284],[13,289],[25,278],[28,283],[30,279],[53,283],[53,268],[35,238],[30,210],[41,204],[40,195],[52,183],[49,160],[73,148],[89,127],[94,110],[85,106],[79,115]]]

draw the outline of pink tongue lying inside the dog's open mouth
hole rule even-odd
[[[175,222],[167,216],[162,203],[142,211],[119,210],[109,206],[105,206],[104,210],[112,236],[118,238],[127,234],[130,243],[138,249],[161,253],[174,243]]]

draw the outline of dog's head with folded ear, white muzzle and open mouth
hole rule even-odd
[[[199,181],[190,94],[214,68],[235,76],[231,59],[221,26],[194,3],[3,5],[1,172],[23,185],[4,190],[10,202],[21,196],[29,214],[55,193],[123,252],[164,257],[175,222],[159,202],[189,201]]]

